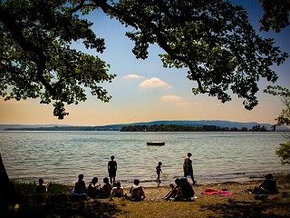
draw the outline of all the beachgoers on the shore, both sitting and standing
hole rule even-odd
[[[192,161],[190,160],[192,154],[184,158],[183,171],[184,177],[177,178],[175,184],[170,183],[170,191],[162,199],[167,201],[190,201],[195,197],[195,192],[192,185],[189,183],[187,177],[190,176],[192,183],[196,184],[193,175]],[[158,184],[160,181],[160,173],[162,163],[159,162],[156,166]],[[125,197],[131,201],[140,201],[145,199],[145,193],[142,186],[140,186],[140,181],[135,179],[133,185],[130,188],[130,195],[127,193],[124,194],[123,187],[121,183],[115,183],[115,177],[117,172],[117,162],[114,160],[114,156],[111,156],[111,161],[108,162],[108,173],[109,177],[103,178],[103,183],[98,184],[98,177],[93,177],[91,183],[86,187],[86,184],[83,181],[83,174],[79,174],[78,181],[74,184],[74,189],[70,195],[71,199],[76,198],[108,198],[109,196],[113,197]],[[112,185],[113,184],[113,185]],[[250,193],[255,194],[269,194],[269,193],[278,193],[277,185],[275,178],[272,174],[266,174],[266,178],[259,186],[255,187],[253,190],[248,190]],[[39,179],[39,184],[36,186],[36,197],[38,199],[45,198],[45,193],[47,192],[47,187],[43,184],[43,179]]]

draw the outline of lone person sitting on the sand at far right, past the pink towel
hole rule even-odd
[[[265,180],[258,186],[255,187],[253,190],[250,190],[250,193],[266,193],[266,194],[275,194],[279,193],[277,189],[277,183],[273,174],[269,173],[265,175]]]

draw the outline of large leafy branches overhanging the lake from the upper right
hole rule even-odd
[[[226,1],[121,0],[117,9],[123,11],[120,20],[137,26],[127,33],[137,58],[147,57],[150,44],[160,45],[165,67],[187,68],[189,80],[198,83],[193,93],[217,96],[222,103],[231,100],[230,89],[252,109],[259,79],[274,83],[271,66],[287,57],[273,39],[256,35],[242,7]]]

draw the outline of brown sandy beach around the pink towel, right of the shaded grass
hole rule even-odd
[[[277,180],[279,181],[279,179]],[[115,217],[290,217],[290,181],[278,183],[278,194],[268,195],[266,199],[256,200],[248,193],[261,181],[247,183],[213,183],[194,186],[197,198],[192,202],[168,202],[162,200],[169,187],[144,188],[146,199],[130,202],[113,198],[120,213]],[[207,189],[221,191],[227,189],[231,196],[202,194]],[[125,189],[129,193],[129,188]],[[108,200],[101,200],[108,202]]]

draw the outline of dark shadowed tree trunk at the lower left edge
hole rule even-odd
[[[10,182],[0,154],[0,210],[16,203],[14,185]]]

